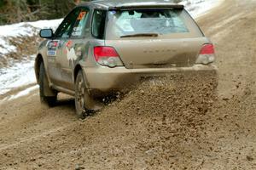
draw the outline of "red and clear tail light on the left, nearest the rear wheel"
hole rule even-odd
[[[119,58],[119,54],[113,47],[95,47],[94,58],[100,65],[105,65],[111,68],[123,65],[121,59]]]

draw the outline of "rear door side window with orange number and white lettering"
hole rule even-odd
[[[72,37],[83,37],[88,17],[89,9],[82,8],[73,26]]]

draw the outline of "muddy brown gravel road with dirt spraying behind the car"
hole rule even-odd
[[[0,169],[256,169],[255,8],[226,0],[197,20],[216,90],[207,73],[143,82],[84,121],[64,94],[50,109],[38,90],[0,104]]]

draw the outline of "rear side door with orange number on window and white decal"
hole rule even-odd
[[[62,39],[60,66],[64,88],[74,90],[73,69],[84,55],[85,45],[89,41],[89,18],[90,9],[86,7],[79,8],[79,14],[73,24],[70,37]]]

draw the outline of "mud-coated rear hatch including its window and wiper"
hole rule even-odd
[[[123,8],[108,11],[106,46],[126,68],[190,66],[208,40],[180,8]]]

